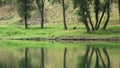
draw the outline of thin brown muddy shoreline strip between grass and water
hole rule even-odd
[[[88,36],[59,36],[59,37],[29,37],[29,38],[1,38],[0,40],[55,40],[55,41],[120,41],[120,37],[88,37]]]

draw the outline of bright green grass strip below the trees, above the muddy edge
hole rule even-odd
[[[72,28],[76,26],[77,29]],[[29,26],[25,29],[23,25],[0,26],[1,38],[20,38],[20,37],[58,37],[58,36],[92,36],[92,37],[120,37],[120,26],[108,26],[107,30],[98,30],[86,33],[82,25],[68,25],[68,30],[63,29],[62,24],[46,25],[44,29],[37,26]]]

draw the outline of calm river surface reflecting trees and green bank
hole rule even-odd
[[[27,43],[22,44],[27,46],[20,48],[17,47],[21,46],[19,43],[9,42],[5,47],[2,43],[0,44],[0,68],[120,68],[119,43],[100,43],[85,45],[52,42],[50,46],[37,43],[38,47],[34,47],[35,44],[29,47]]]

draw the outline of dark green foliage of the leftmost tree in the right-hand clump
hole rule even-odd
[[[91,0],[73,0],[74,8],[78,8],[77,15],[80,21],[85,22],[90,14],[89,5]]]

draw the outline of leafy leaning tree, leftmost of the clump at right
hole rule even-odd
[[[87,0],[73,0],[74,8],[78,8],[77,15],[79,16],[79,20],[82,21],[83,24],[85,25],[87,32],[90,32],[90,27],[89,27],[88,20],[87,20],[88,16],[90,16],[88,3],[89,2]]]

